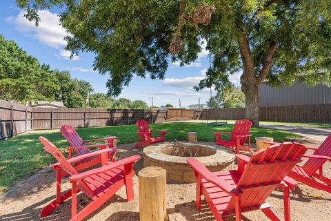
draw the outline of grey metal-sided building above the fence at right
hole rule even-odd
[[[295,82],[292,86],[271,88],[263,83],[259,106],[292,106],[304,104],[331,104],[331,87],[314,87]]]

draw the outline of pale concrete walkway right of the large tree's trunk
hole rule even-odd
[[[261,127],[267,127],[272,129],[278,129],[282,131],[288,131],[291,133],[297,133],[303,137],[307,137],[317,142],[323,142],[325,138],[331,133],[331,128],[320,128],[320,127],[304,127],[304,126],[293,126],[284,124],[260,124]]]

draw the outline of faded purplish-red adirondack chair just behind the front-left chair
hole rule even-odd
[[[99,139],[92,139],[92,140],[82,140],[81,137],[78,135],[77,131],[74,129],[74,127],[69,125],[63,125],[61,126],[61,134],[64,138],[68,141],[70,144],[70,147],[68,147],[69,151],[69,158],[72,157],[72,151],[75,151],[77,155],[85,155],[90,153],[88,148],[100,148],[101,150],[104,148],[108,148],[108,159],[115,161],[115,155],[117,153],[117,147],[116,144],[114,145],[115,140],[117,140],[117,137],[104,137]],[[86,143],[89,142],[99,142],[99,141],[105,141],[104,144],[92,144],[92,145],[86,145]],[[99,164],[101,162],[101,158],[99,155],[95,155],[93,157],[86,157],[81,160],[81,162],[77,162],[77,164],[80,164],[80,166],[75,167],[77,171],[80,171],[81,169],[86,169],[90,166],[93,166],[94,164]]]

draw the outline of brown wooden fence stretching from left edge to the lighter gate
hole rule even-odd
[[[31,108],[0,99],[0,140],[31,130],[165,122],[167,111],[106,108]]]

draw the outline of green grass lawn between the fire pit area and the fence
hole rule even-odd
[[[204,123],[172,122],[163,124],[152,124],[150,127],[154,130],[167,131],[165,139],[168,141],[187,140],[189,131],[197,131],[198,140],[214,142],[212,132],[232,131],[233,124],[220,127],[207,126]],[[116,135],[119,137],[119,144],[132,143],[137,141],[137,126],[105,126],[95,128],[77,129],[83,140],[97,137],[106,137]],[[276,131],[268,128],[252,128],[252,142],[254,137],[270,136],[274,137],[276,142],[298,138],[299,135]],[[0,190],[6,191],[19,180],[28,177],[39,169],[55,162],[54,158],[43,151],[38,137],[44,136],[58,146],[63,153],[66,153],[65,147],[68,146],[59,130],[54,131],[30,131],[17,135],[16,137],[0,142]]]

